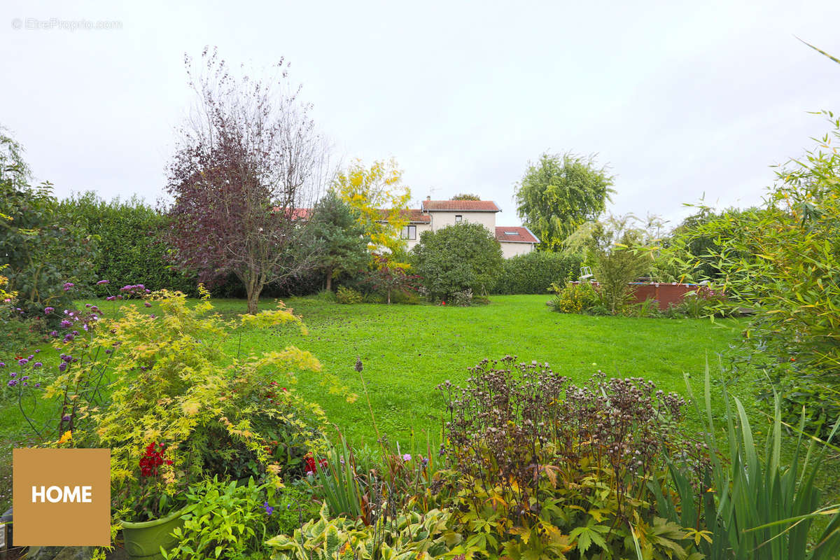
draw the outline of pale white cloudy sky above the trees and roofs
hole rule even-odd
[[[51,21],[120,29],[43,29]],[[840,112],[840,2],[9,2],[0,124],[59,196],[162,195],[183,67],[285,56],[334,159],[395,157],[416,200],[475,192],[519,223],[543,151],[598,154],[614,212],[748,206]],[[15,25],[22,29],[14,29]],[[28,28],[36,29],[28,29]],[[39,28],[40,29],[37,29]]]

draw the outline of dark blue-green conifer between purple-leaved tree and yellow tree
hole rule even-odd
[[[323,243],[318,268],[326,275],[327,290],[333,288],[333,278],[343,272],[367,267],[365,228],[358,221],[358,212],[342,201],[334,191],[328,191],[312,210],[312,236]]]

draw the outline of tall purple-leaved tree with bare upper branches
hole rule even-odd
[[[317,264],[303,209],[322,186],[326,150],[283,60],[269,79],[234,76],[216,50],[202,60],[195,76],[186,58],[197,106],[169,167],[170,242],[199,280],[236,275],[255,313],[266,284]]]

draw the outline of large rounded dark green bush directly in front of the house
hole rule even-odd
[[[461,222],[423,232],[412,260],[432,301],[449,300],[464,290],[484,295],[501,272],[501,246],[480,223]]]

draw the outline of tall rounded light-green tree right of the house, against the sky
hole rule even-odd
[[[517,184],[517,212],[542,240],[540,249],[560,249],[564,239],[582,223],[596,219],[613,191],[606,166],[594,157],[542,154]]]

